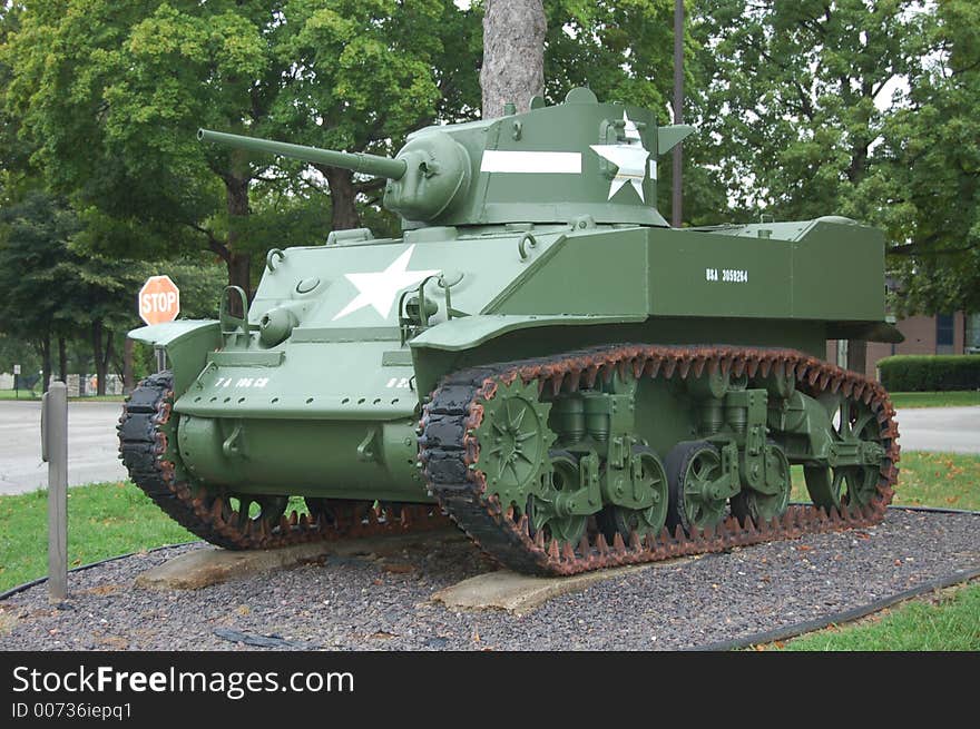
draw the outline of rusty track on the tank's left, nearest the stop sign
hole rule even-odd
[[[173,415],[173,378],[151,375],[139,383],[124,406],[117,427],[119,452],[129,476],[170,519],[197,536],[231,550],[268,549],[302,542],[336,541],[447,526],[432,505],[404,505],[396,518],[374,509],[373,501],[331,501],[333,518],[282,516],[277,523],[248,519],[239,525],[227,496],[196,489],[178,476],[167,460]]]

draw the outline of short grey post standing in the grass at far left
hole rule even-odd
[[[48,464],[48,598],[68,594],[68,388],[51,383],[41,401],[41,459]]]

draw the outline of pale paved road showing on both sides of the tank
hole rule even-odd
[[[117,459],[119,403],[69,403],[68,483],[126,477]],[[41,462],[39,402],[0,401],[0,494],[32,491],[47,484]],[[899,412],[905,451],[980,453],[980,406],[923,407]]]

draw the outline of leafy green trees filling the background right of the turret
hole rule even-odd
[[[976,309],[978,93],[969,0],[709,0],[694,32],[733,217],[882,227],[900,313]],[[906,88],[908,87],[908,90]]]

